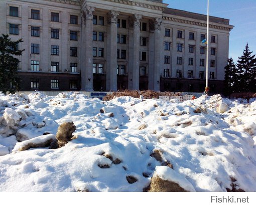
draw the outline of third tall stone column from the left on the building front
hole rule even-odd
[[[131,30],[130,50],[129,50],[129,82],[130,90],[139,90],[140,87],[140,20],[142,15],[134,15],[129,18],[129,25],[134,29]]]

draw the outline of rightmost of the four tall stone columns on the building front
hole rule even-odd
[[[160,71],[161,71],[161,18],[150,21],[150,45],[149,45],[149,89],[160,90]]]

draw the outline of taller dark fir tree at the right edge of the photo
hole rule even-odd
[[[255,55],[251,55],[252,51],[249,51],[248,43],[243,50],[243,55],[238,57],[237,60],[237,77],[239,82],[238,92],[255,91],[255,67],[256,58]]]

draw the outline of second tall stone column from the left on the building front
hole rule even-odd
[[[117,90],[117,17],[119,12],[110,11],[107,14],[107,66],[106,66],[106,90]]]

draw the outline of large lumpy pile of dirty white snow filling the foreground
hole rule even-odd
[[[11,117],[0,131],[6,119],[17,127],[0,136],[1,191],[143,191],[153,176],[187,191],[256,191],[254,99],[26,98],[0,94],[0,114]],[[65,146],[20,151],[70,122],[76,139]]]

